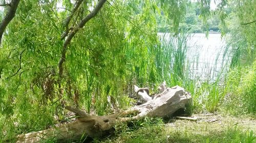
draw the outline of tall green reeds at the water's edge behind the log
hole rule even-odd
[[[156,83],[165,80],[169,86],[184,87],[193,96],[194,105],[191,109],[216,111],[227,93],[227,87],[223,85],[229,65],[227,58],[230,47],[223,46],[211,62],[213,64],[205,63],[201,73],[195,74],[190,71],[191,61],[187,57],[188,38],[189,35],[185,33],[176,37],[161,34],[160,44],[151,51],[151,54],[155,55],[155,63],[152,63],[151,67],[155,66],[156,75],[159,77]],[[199,65],[199,62],[197,60],[196,65]],[[204,75],[208,76],[203,78]]]

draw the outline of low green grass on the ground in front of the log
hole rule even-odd
[[[239,123],[237,118],[225,117],[207,123],[177,120],[164,124],[162,120],[135,128],[126,127],[115,136],[94,142],[254,142],[255,121],[252,125]],[[247,120],[247,119],[246,119]]]

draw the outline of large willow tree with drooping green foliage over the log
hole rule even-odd
[[[103,115],[110,106],[129,104],[123,95],[134,82],[149,84],[155,70],[149,65],[155,58],[150,49],[159,42],[156,17],[166,17],[177,34],[188,3],[1,2],[1,138],[63,121],[64,105]],[[206,17],[210,1],[199,2]]]

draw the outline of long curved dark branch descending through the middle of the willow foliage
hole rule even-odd
[[[84,17],[78,24],[78,27],[74,28],[71,32],[69,32],[68,37],[63,44],[62,51],[61,51],[61,58],[58,63],[58,68],[59,68],[59,76],[62,76],[63,73],[63,63],[66,60],[66,52],[67,48],[72,40],[72,38],[75,36],[75,34],[79,31],[80,28],[82,28],[90,19],[92,19],[96,14],[99,12],[103,4],[106,2],[106,0],[100,0],[99,3],[96,5],[96,7],[93,9],[93,11],[88,14],[86,17]]]

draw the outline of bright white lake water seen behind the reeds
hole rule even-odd
[[[162,37],[163,33],[158,33]],[[168,38],[169,34],[165,35]],[[226,48],[225,40],[221,34],[190,34],[187,39],[186,61],[190,78],[201,80],[215,80],[218,73],[224,73],[229,67],[229,49]]]

